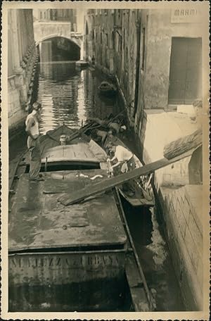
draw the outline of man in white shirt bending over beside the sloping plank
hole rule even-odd
[[[113,156],[113,158],[111,158],[110,161],[113,162],[113,160],[117,159],[117,163],[112,165],[112,168],[116,168],[118,165],[122,164],[121,172],[127,172],[127,162],[129,162],[129,160],[132,160],[133,153],[120,145],[113,145],[111,147],[111,151],[113,151],[115,155]]]

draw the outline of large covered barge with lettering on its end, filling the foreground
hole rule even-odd
[[[134,277],[128,271],[140,273],[133,252],[127,259],[131,245],[117,189],[72,206],[58,203],[63,192],[91,186],[108,176],[106,152],[65,125],[47,132],[40,143],[44,182],[28,180],[28,153],[10,181],[8,310],[120,308],[125,272],[129,284],[134,284]],[[140,309],[137,291],[141,302],[148,304],[142,282],[131,288],[134,306]]]

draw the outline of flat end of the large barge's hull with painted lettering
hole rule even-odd
[[[9,311],[115,310],[124,260],[124,250],[10,255]]]

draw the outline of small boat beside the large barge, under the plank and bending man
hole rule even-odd
[[[113,143],[115,145],[120,145],[120,146],[123,146],[124,148],[127,148],[127,146],[125,146],[125,144],[119,137],[114,137]],[[108,152],[108,149],[106,151]],[[121,166],[122,165],[118,166],[116,175],[120,174]],[[128,170],[132,170],[134,168],[140,168],[142,166],[143,165],[139,160],[139,158],[135,154],[133,154],[132,160],[129,161]],[[152,175],[145,175],[135,180],[129,180],[128,182],[118,187],[120,194],[132,206],[146,206],[146,207],[154,206],[155,197],[153,194],[153,188],[151,186],[151,178],[152,178]]]

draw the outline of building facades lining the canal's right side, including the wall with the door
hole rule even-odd
[[[87,11],[84,58],[117,76],[132,123],[137,113],[140,124],[145,108],[166,109],[202,99],[199,23],[196,8]]]

